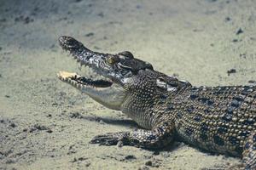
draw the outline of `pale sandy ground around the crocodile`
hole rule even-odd
[[[196,86],[256,80],[253,0],[0,0],[0,169],[224,169],[240,161],[183,143],[160,151],[88,144],[136,124],[56,78],[88,72],[59,48],[61,35],[100,52],[129,50]]]

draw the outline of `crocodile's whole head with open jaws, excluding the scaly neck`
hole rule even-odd
[[[63,82],[79,88],[92,99],[108,108],[120,110],[126,97],[125,84],[131,82],[138,71],[153,70],[152,65],[140,59],[135,59],[128,52],[119,54],[102,54],[93,52],[73,37],[62,36],[59,38],[61,48],[69,51],[80,65],[89,66],[106,79],[93,80],[82,77],[78,73],[60,71],[58,77]]]

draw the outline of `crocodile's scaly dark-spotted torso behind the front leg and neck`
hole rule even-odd
[[[172,99],[178,135],[189,144],[241,156],[256,129],[256,87],[191,88]]]

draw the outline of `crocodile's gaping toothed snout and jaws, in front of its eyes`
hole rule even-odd
[[[78,73],[60,71],[57,74],[59,79],[74,88],[78,88],[83,94],[87,94],[98,103],[120,111],[121,105],[126,99],[126,93],[125,88],[119,83],[116,65],[110,65],[113,64],[112,55],[90,51],[73,37],[61,36],[59,42],[61,48],[68,51],[81,66],[88,66],[93,71],[89,77],[80,76]],[[99,75],[100,79],[94,73]],[[92,79],[91,77],[96,78]]]

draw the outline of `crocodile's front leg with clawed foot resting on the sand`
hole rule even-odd
[[[152,130],[137,129],[131,132],[107,133],[98,135],[90,140],[91,144],[114,145],[121,142],[123,145],[132,145],[141,148],[162,148],[173,140],[174,123],[164,122]]]

